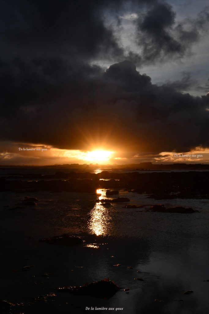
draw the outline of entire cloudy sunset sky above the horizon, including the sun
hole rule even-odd
[[[209,163],[209,6],[1,1],[0,164]]]

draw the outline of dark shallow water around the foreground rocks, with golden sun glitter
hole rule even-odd
[[[100,199],[106,198],[106,190],[98,192],[102,193]],[[86,311],[86,307],[95,306],[123,307],[123,311],[117,311],[123,314],[208,312],[209,282],[204,281],[209,279],[208,200],[159,201],[146,194],[119,193],[119,197],[130,198],[130,204],[163,203],[166,207],[184,206],[200,211],[176,214],[146,211],[149,207],[123,208],[125,203],[105,208],[96,202],[96,195],[87,193],[1,194],[0,298],[24,303],[13,307],[11,313],[86,313],[91,311]],[[38,198],[37,206],[15,210],[4,207],[17,206],[25,196]],[[39,242],[63,233],[82,236],[84,246]],[[121,266],[113,266],[118,263]],[[29,265],[32,266],[23,268]],[[133,269],[127,269],[130,266]],[[44,276],[45,273],[49,275]],[[104,278],[129,290],[121,289],[106,300],[54,290]],[[185,290],[193,293],[185,295]],[[46,302],[35,301],[38,295],[50,292],[56,296]],[[154,302],[155,299],[162,302]]]

